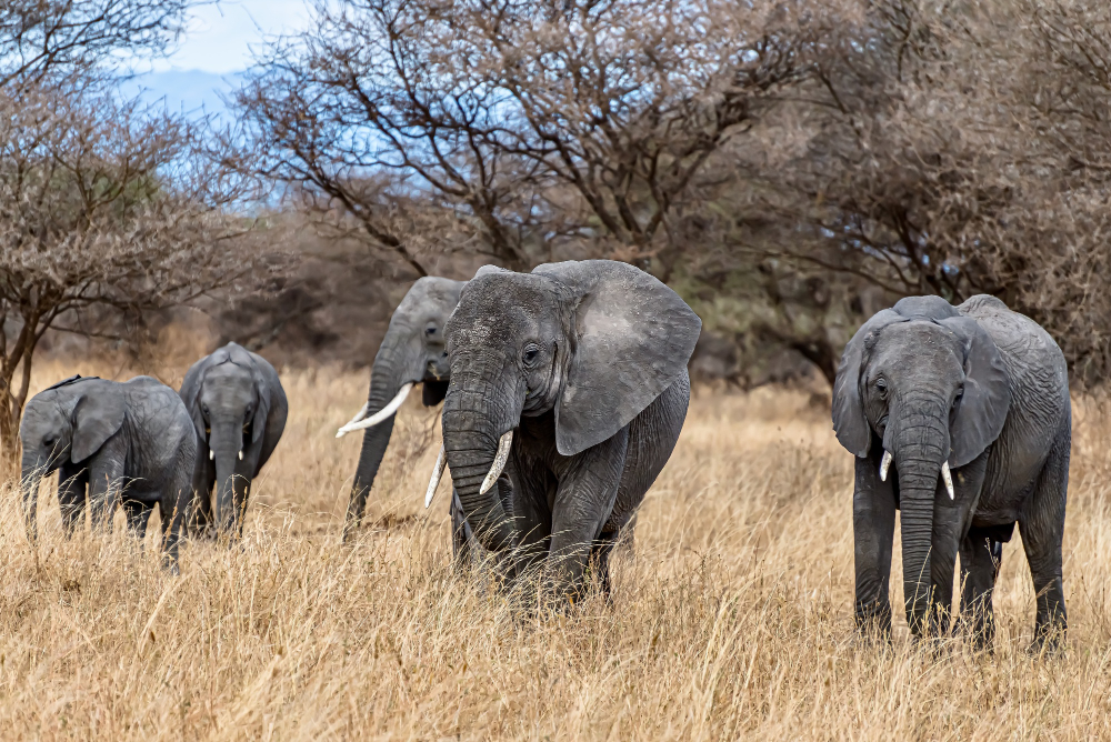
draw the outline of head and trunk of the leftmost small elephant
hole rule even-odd
[[[81,463],[123,425],[126,402],[116,384],[97,377],[70,377],[27,403],[19,424],[23,455],[20,482],[28,537],[38,533],[39,482],[67,461]]]

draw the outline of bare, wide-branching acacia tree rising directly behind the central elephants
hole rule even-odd
[[[259,174],[354,219],[417,274],[421,248],[516,269],[560,248],[643,261],[671,244],[669,220],[707,159],[801,77],[810,31],[789,10],[318,2],[311,29],[271,44],[237,102]],[[450,240],[414,247],[404,215],[422,209],[450,214]]]

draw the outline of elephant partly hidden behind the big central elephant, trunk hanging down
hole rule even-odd
[[[443,400],[448,390],[443,325],[456,309],[459,292],[466,283],[434,277],[421,278],[413,283],[390,318],[390,327],[378,349],[378,355],[374,357],[370,393],[367,397],[367,417],[389,404],[401,387],[409,382],[422,384],[424,407],[439,404]],[[390,444],[396,417],[390,415],[363,432],[362,451],[351,484],[351,500],[343,524],[344,541],[351,538],[362,520],[367,495],[374,484],[386,448]],[[456,510],[452,503],[452,517],[458,521]],[[458,529],[453,530],[459,533]],[[460,535],[457,535],[457,553],[461,545]]]

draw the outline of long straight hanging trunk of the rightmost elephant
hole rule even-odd
[[[899,477],[907,623],[915,636],[923,636],[930,631],[935,599],[931,571],[934,501],[950,443],[944,410],[929,409],[935,407],[933,404],[911,403],[908,407],[914,411],[905,417],[892,415],[888,440]]]

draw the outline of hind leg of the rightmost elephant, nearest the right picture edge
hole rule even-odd
[[[1050,451],[1034,487],[1030,507],[1019,519],[1022,548],[1030,563],[1038,612],[1034,643],[1041,650],[1047,642],[1055,649],[1064,640],[1068,614],[1064,610],[1064,580],[1061,570],[1061,541],[1064,537],[1064,503],[1069,489],[1071,431],[1067,428]]]

